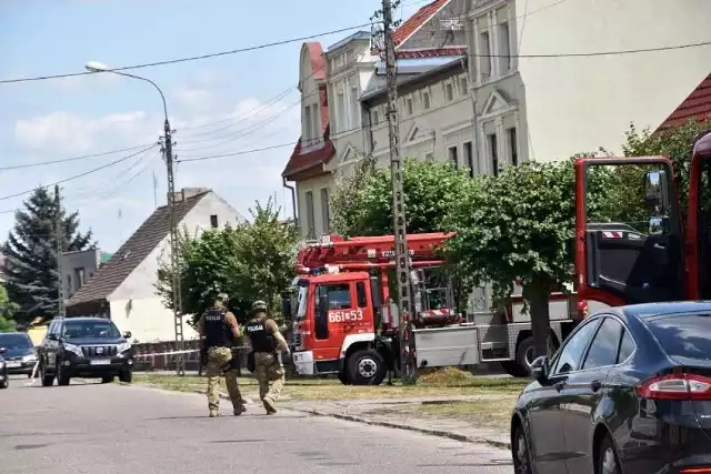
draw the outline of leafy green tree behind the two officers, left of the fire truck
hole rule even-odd
[[[270,199],[250,209],[251,222],[234,228],[206,230],[198,236],[182,232],[178,259],[184,314],[194,325],[218,292],[230,295],[230,309],[244,322],[251,303],[266,301],[280,316],[280,293],[293,279],[299,233],[293,222],[279,220],[280,209]],[[163,259],[156,285],[172,309],[172,273]]]

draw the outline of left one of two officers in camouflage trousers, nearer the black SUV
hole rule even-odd
[[[227,307],[229,297],[226,293],[220,293],[214,300],[214,304],[209,307],[198,322],[198,332],[204,336],[207,350],[207,375],[208,375],[208,407],[210,416],[219,416],[220,395],[218,384],[222,375],[223,366],[232,360],[232,345],[240,336],[237,317]],[[224,384],[232,402],[234,415],[244,412],[244,400],[240,392],[237,380],[237,370],[230,367],[224,372]]]

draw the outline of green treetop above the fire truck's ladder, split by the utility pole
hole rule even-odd
[[[469,184],[464,171],[452,164],[404,160],[402,188],[408,232],[443,231],[445,216]],[[370,171],[368,164],[346,180],[331,201],[336,232],[343,235],[392,233],[392,182],[390,169]]]

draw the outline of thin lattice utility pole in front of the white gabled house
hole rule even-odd
[[[172,272],[173,321],[176,324],[176,372],[179,376],[186,374],[186,359],[182,350],[184,339],[182,334],[182,295],[180,290],[180,272],[178,269],[178,221],[176,218],[176,177],[173,172],[173,139],[170,122],[166,117],[163,142],[163,159],[168,171],[168,214],[170,220],[170,268]]]

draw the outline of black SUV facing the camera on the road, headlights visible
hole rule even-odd
[[[111,320],[56,317],[39,347],[43,386],[69,385],[71,377],[101,379],[109,383],[133,377],[133,349]]]

